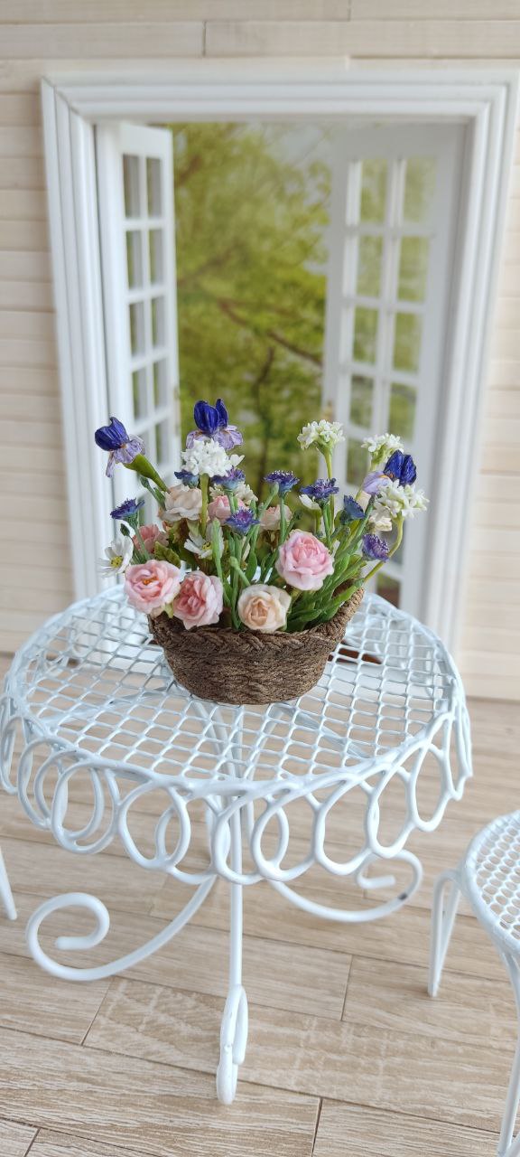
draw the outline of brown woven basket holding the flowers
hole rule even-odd
[[[218,626],[186,631],[166,614],[148,621],[177,681],[194,695],[217,703],[273,703],[315,686],[362,598],[359,589],[329,622],[294,634]]]

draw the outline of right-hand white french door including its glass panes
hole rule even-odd
[[[366,469],[362,442],[388,430],[414,455],[418,485],[434,504],[462,146],[458,125],[380,123],[337,133],[324,390],[347,432],[335,465],[348,492]],[[431,517],[406,524],[378,581],[380,594],[417,616]]]

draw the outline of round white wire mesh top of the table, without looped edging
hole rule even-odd
[[[299,776],[392,757],[448,710],[459,677],[441,642],[366,595],[319,684],[288,703],[230,707],[179,686],[121,588],[57,616],[7,677],[32,735],[80,758],[176,776]]]

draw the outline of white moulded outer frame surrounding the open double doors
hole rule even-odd
[[[462,121],[467,126],[446,341],[444,455],[430,495],[423,618],[448,646],[467,566],[467,523],[481,447],[493,295],[513,164],[513,69],[348,71],[346,61],[176,61],[164,72],[57,75],[42,83],[61,398],[77,597],[98,587],[107,494],[91,430],[106,420],[95,125],[253,118]],[[88,488],[90,518],[82,519]],[[450,517],[446,516],[450,511]]]

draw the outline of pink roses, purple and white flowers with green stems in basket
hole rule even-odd
[[[109,452],[106,474],[117,463],[136,472],[157,502],[159,522],[142,523],[143,499],[112,510],[119,532],[105,551],[103,573],[124,575],[128,602],[148,614],[161,641],[170,622],[177,647],[179,629],[201,638],[201,628],[211,628],[213,636],[217,628],[228,641],[230,632],[257,641],[300,639],[336,619],[343,629],[341,612],[357,605],[363,584],[399,548],[404,521],[426,506],[400,440],[385,434],[364,443],[369,473],[340,503],[333,455],[344,441],[342,427],[310,422],[298,442],[303,451],[320,451],[325,477],[298,489],[294,473],[272,471],[260,501],[240,469],[243,456],[235,451],[243,437],[222,399],[214,406],[198,401],[194,422],[174,486],[118,419],[96,430],[97,445]]]

